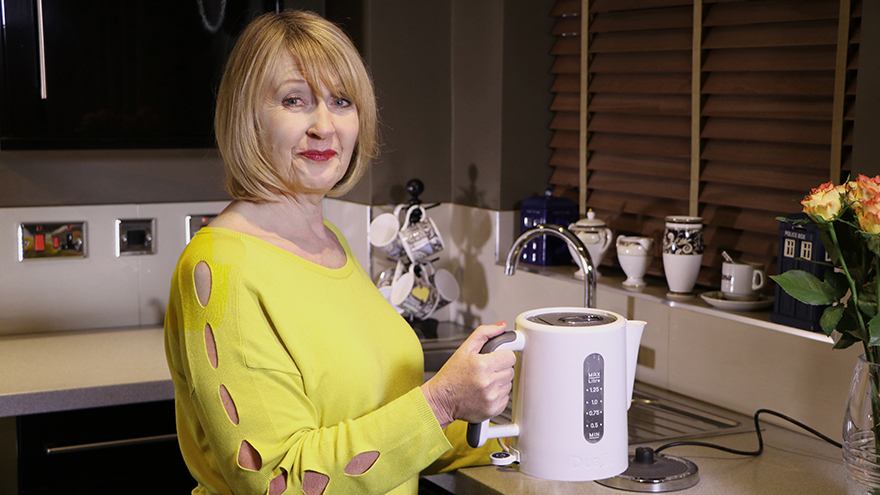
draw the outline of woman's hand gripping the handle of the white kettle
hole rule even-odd
[[[441,427],[456,419],[481,423],[504,411],[513,388],[516,356],[509,350],[480,354],[480,349],[506,329],[506,322],[477,327],[440,371],[422,385],[422,393]]]

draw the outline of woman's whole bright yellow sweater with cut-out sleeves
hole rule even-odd
[[[348,257],[340,269],[215,228],[180,257],[165,341],[195,494],[265,494],[278,476],[295,488],[286,493],[302,493],[307,471],[329,478],[325,495],[415,494],[432,463],[433,472],[486,463],[498,447],[467,447],[461,422],[441,430],[418,388],[418,338],[325,224]],[[205,306],[193,277],[201,261],[211,271]],[[258,471],[239,464],[243,442]],[[365,452],[378,459],[346,474]]]

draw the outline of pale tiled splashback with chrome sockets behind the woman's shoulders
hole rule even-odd
[[[171,274],[186,245],[185,217],[226,202],[0,208],[0,334],[161,325]],[[368,258],[369,208],[327,200],[325,216]],[[116,256],[116,219],[156,219],[156,253]],[[87,222],[84,259],[18,261],[22,222]]]

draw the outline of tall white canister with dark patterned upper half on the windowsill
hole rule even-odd
[[[672,294],[688,294],[703,261],[703,219],[668,216],[663,235],[663,271]]]

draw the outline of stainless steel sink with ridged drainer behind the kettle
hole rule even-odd
[[[433,376],[463,339],[423,341],[425,378]],[[492,420],[509,423],[511,409]],[[754,430],[750,417],[636,382],[628,413],[629,444],[686,440]]]

